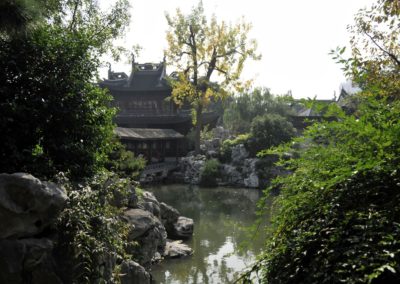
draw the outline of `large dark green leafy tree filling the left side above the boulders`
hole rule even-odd
[[[77,179],[102,167],[112,148],[111,97],[93,80],[127,23],[127,3],[109,14],[92,1],[58,3],[29,33],[0,36],[2,172]]]

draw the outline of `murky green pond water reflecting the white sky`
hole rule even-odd
[[[242,228],[256,219],[259,190],[188,185],[159,185],[146,190],[194,220],[193,237],[185,241],[194,254],[154,265],[151,274],[155,283],[232,283],[254,262],[263,242]],[[245,240],[250,245],[242,249]]]

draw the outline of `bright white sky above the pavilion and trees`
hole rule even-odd
[[[348,45],[346,27],[354,14],[372,0],[203,0],[206,14],[235,22],[242,16],[253,25],[251,37],[258,42],[262,59],[248,62],[243,78],[274,94],[291,90],[295,98],[332,98],[345,81],[340,65],[328,54]],[[189,12],[197,0],[132,1],[132,21],[122,44],[143,49],[136,61],[160,62],[166,48],[165,12],[176,8]],[[114,71],[130,72],[130,64],[114,63]],[[173,70],[167,70],[171,73]],[[105,77],[105,70],[101,71]]]

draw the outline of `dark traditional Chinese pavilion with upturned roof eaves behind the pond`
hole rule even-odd
[[[165,60],[139,64],[132,61],[130,76],[108,71],[100,87],[110,90],[118,108],[116,133],[128,150],[143,155],[150,163],[183,156],[188,151],[184,139],[192,120],[190,108],[178,108],[167,82]],[[218,115],[205,113],[205,124],[216,122]]]

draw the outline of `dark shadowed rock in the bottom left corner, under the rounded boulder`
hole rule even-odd
[[[49,239],[0,240],[0,283],[63,283],[55,270]]]

